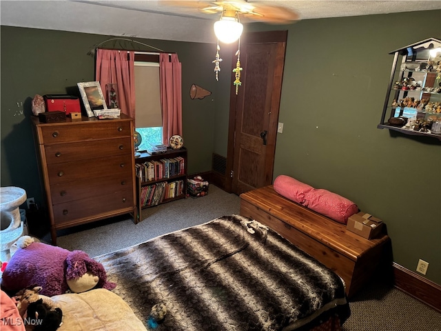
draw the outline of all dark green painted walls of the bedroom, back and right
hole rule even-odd
[[[288,30],[274,178],[287,174],[341,194],[380,217],[393,259],[441,284],[441,145],[376,128],[392,55],[402,46],[441,37],[441,11],[314,19]],[[1,27],[1,186],[41,197],[30,126],[34,94],[63,93],[94,79],[86,53],[105,36]],[[220,80],[214,44],[146,41],[177,52],[183,63],[183,138],[189,172],[210,170],[212,152],[227,156],[230,69],[234,47],[221,45]],[[111,44],[110,44],[111,46]],[[210,90],[189,99],[192,83]],[[37,199],[39,201],[39,199]]]

